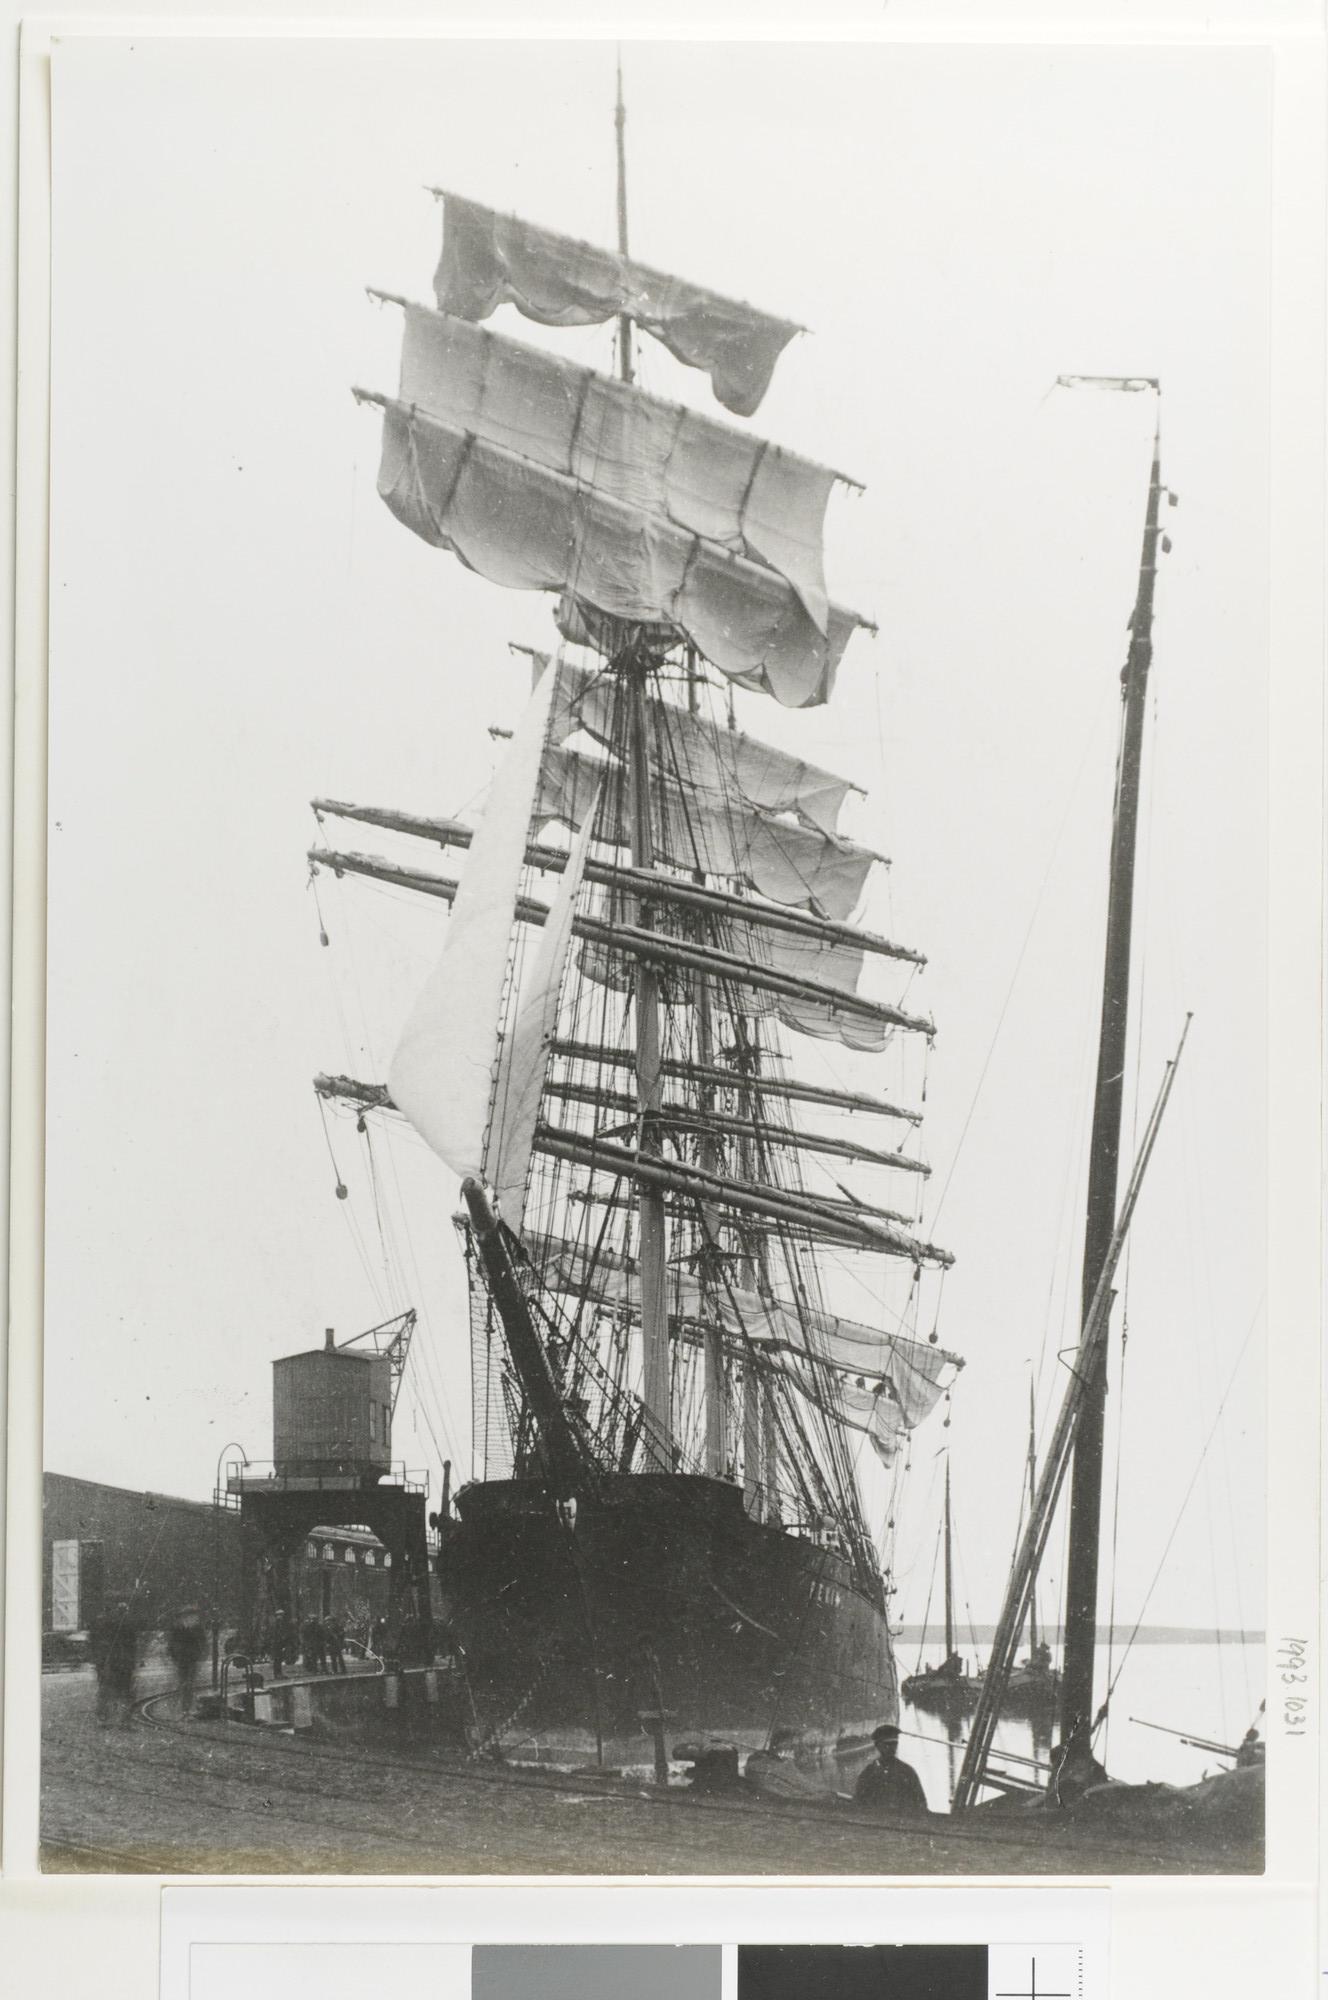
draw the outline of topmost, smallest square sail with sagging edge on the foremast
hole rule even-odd
[[[558,236],[518,216],[442,198],[442,258],[434,296],[442,312],[486,320],[516,306],[542,326],[600,326],[626,314],[676,360],[704,368],[726,410],[752,416],[774,364],[798,332],[738,300],[670,278],[612,250]]]

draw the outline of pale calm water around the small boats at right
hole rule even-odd
[[[900,1646],[900,1678],[912,1674],[914,1652],[914,1644]],[[938,1656],[938,1650],[932,1648],[928,1656],[932,1654]],[[1060,1654],[1056,1664],[1060,1664]],[[1108,1722],[1096,1738],[1096,1752],[1112,1778],[1124,1778],[1130,1784],[1142,1784],[1150,1778],[1164,1784],[1196,1784],[1206,1772],[1230,1770],[1230,1758],[1214,1756],[1212,1750],[1194,1750],[1180,1738],[1142,1728],[1130,1718],[1164,1722],[1168,1728],[1206,1736],[1212,1742],[1238,1744],[1256,1720],[1258,1704],[1264,1698],[1262,1644],[1146,1646],[1136,1642],[1124,1658],[1124,1666],[1120,1646],[1116,1646],[1110,1672],[1120,1678],[1112,1694]],[[1098,1702],[1106,1684],[1108,1648],[1102,1644],[1098,1646]],[[968,1720],[946,1722],[942,1716],[912,1708],[910,1702],[900,1702],[900,1756],[918,1772],[932,1812],[948,1810],[954,1780],[964,1760]],[[1262,1718],[1258,1720],[1262,1732]],[[1030,1722],[1000,1722],[996,1750],[1038,1758],[1046,1764],[1050,1732],[1034,1730]],[[1026,1772],[1026,1766],[1016,1762],[1010,1762],[1008,1768]],[[1036,1776],[1034,1772],[1026,1774]]]

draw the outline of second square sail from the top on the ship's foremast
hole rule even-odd
[[[404,404],[766,564],[826,630],[822,532],[838,474],[544,348],[400,304]]]

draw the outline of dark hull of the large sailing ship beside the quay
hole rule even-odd
[[[508,1754],[652,1758],[802,1738],[798,1764],[850,1782],[898,1714],[880,1606],[830,1548],[748,1518],[692,1476],[600,1482],[572,1514],[532,1480],[458,1496],[442,1600],[472,1728]]]

